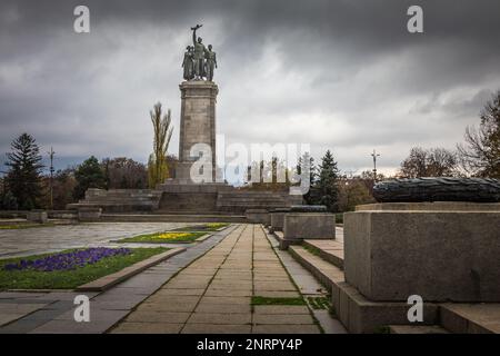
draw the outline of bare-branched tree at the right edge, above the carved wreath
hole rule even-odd
[[[479,128],[466,128],[466,145],[458,145],[460,162],[472,176],[500,178],[500,90],[480,113]]]

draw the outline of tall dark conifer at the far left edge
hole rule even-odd
[[[22,134],[11,144],[12,151],[7,154],[6,166],[9,171],[6,177],[7,190],[11,204],[17,202],[19,209],[39,207],[41,197],[41,164],[40,149],[34,138]]]

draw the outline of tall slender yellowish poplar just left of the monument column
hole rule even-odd
[[[170,127],[170,109],[163,115],[160,102],[154,105],[149,115],[153,126],[153,152],[149,156],[148,161],[148,182],[150,188],[154,188],[169,178],[167,150],[173,128]]]

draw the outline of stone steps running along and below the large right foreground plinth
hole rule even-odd
[[[500,334],[500,304],[423,304],[423,323],[409,323],[409,305],[372,301],[346,283],[342,240],[304,240],[291,256],[331,293],[338,318],[350,333]]]

